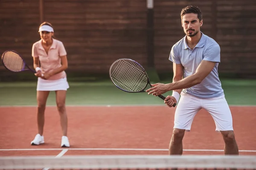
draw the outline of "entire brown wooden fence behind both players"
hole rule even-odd
[[[221,46],[220,73],[256,74],[256,1],[154,0],[154,67],[172,72],[172,45],[184,37],[180,11],[201,8],[201,31]],[[32,67],[32,44],[42,21],[52,23],[67,50],[67,73],[107,74],[111,63],[132,58],[148,66],[146,0],[0,0],[0,53],[20,52]],[[1,76],[13,75],[0,65]]]

